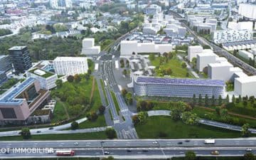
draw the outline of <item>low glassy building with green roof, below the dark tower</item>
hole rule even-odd
[[[41,70],[38,68],[34,68],[33,70],[28,70],[28,77],[36,78],[39,80],[41,88],[44,90],[53,89],[56,87],[56,80],[58,80],[58,75],[54,73],[50,73],[46,70]]]

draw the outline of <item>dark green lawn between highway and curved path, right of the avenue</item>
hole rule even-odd
[[[208,127],[203,124],[198,126],[184,124],[166,116],[149,117],[146,124],[137,125],[136,130],[141,139],[235,138],[241,135],[240,132]]]

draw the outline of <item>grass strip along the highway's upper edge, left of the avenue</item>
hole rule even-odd
[[[30,140],[87,140],[107,139],[105,132],[78,133],[78,134],[42,134],[32,135]],[[21,136],[0,137],[0,141],[22,141]]]

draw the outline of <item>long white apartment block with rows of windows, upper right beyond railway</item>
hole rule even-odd
[[[237,41],[250,41],[253,38],[252,31],[249,30],[232,30],[226,29],[221,31],[215,31],[213,35],[213,41],[215,43],[230,43]]]

